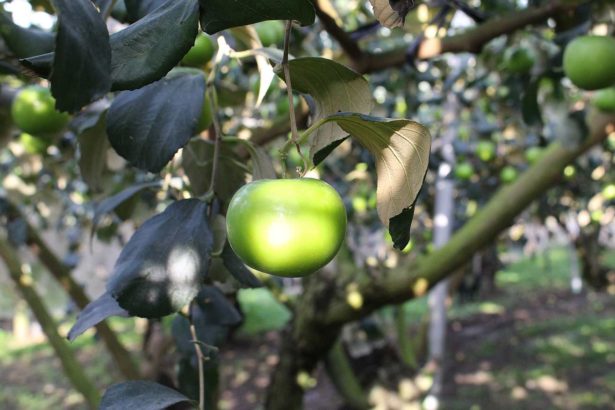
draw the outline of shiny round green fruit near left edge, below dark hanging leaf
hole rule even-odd
[[[51,134],[61,131],[69,115],[55,109],[56,100],[48,88],[28,86],[23,88],[11,106],[13,122],[29,134]]]

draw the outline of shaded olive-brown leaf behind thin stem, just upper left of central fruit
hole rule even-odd
[[[201,139],[190,141],[182,151],[182,166],[190,180],[191,192],[200,196],[209,190],[213,168],[214,144]],[[229,146],[220,147],[216,196],[228,203],[233,194],[246,183],[246,168]]]

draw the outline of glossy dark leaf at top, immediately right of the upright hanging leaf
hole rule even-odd
[[[159,80],[179,63],[198,32],[197,0],[171,0],[111,36],[112,89]]]

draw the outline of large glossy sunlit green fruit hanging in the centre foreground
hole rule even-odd
[[[226,214],[228,241],[243,262],[271,275],[305,276],[325,266],[346,232],[346,210],[327,183],[265,179],[244,185]]]

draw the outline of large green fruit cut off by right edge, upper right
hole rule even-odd
[[[577,87],[599,90],[615,83],[615,38],[582,36],[564,51],[564,72]]]

